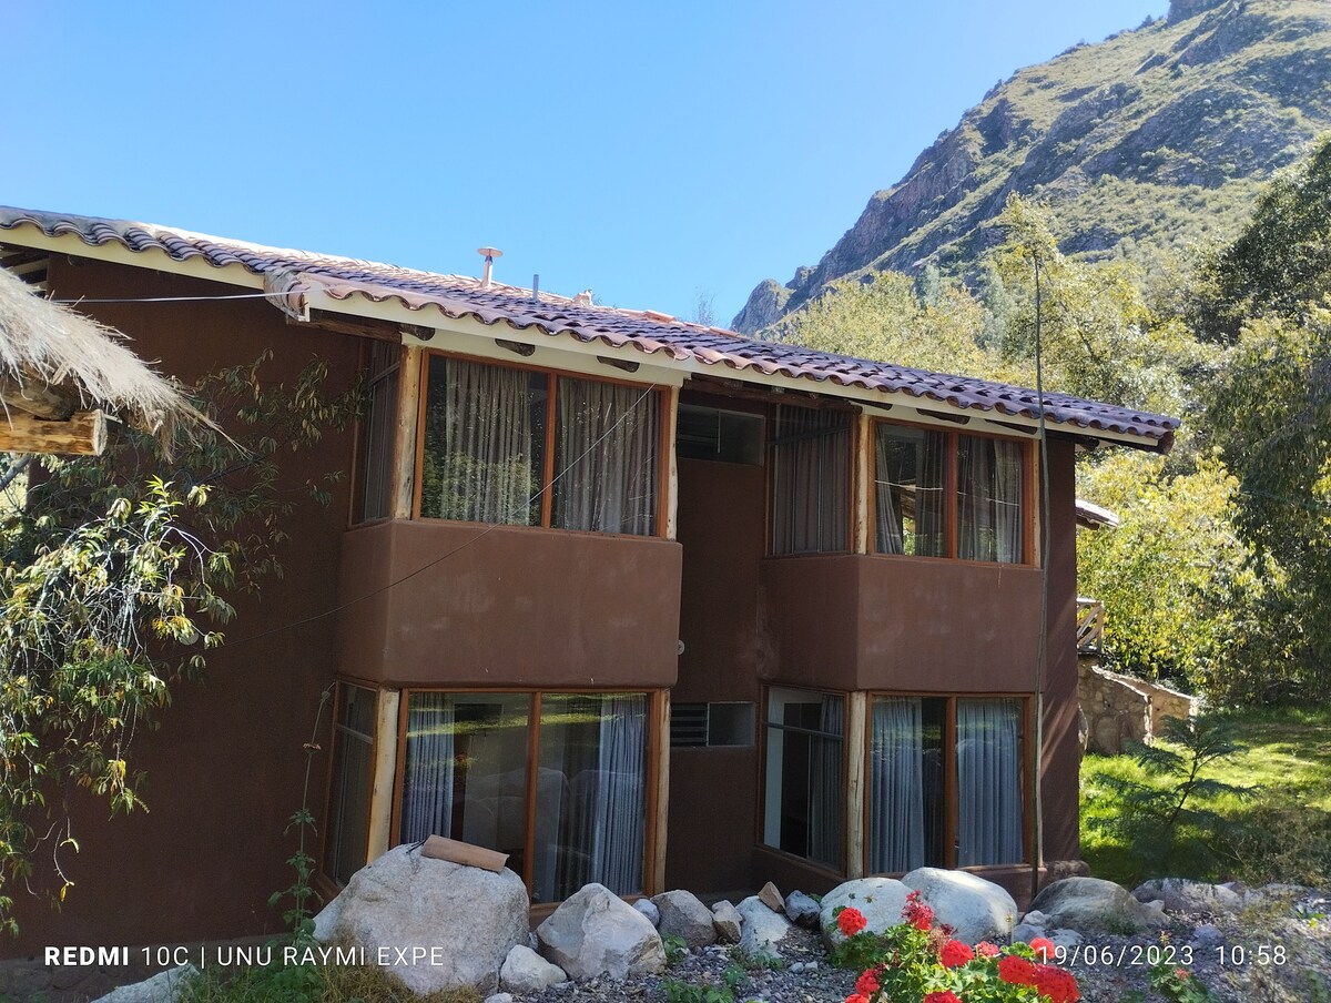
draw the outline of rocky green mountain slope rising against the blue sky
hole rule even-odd
[[[965,274],[1010,192],[1050,202],[1065,253],[1143,264],[1234,237],[1272,172],[1331,129],[1331,1],[1173,0],[1135,31],[1014,73],[874,193],[816,268],[764,280],[753,333],[832,280]]]

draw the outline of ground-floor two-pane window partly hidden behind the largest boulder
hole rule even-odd
[[[534,902],[643,890],[648,697],[410,693],[401,842],[508,854]]]

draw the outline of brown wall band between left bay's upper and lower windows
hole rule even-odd
[[[378,522],[346,534],[339,579],[347,675],[402,686],[675,685],[679,543]],[[385,589],[391,582],[401,585]]]

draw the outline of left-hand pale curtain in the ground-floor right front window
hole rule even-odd
[[[869,871],[904,874],[925,863],[920,699],[876,699],[869,749]]]

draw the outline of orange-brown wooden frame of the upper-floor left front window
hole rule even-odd
[[[465,522],[459,519],[441,519],[433,515],[421,514],[421,494],[423,489],[422,473],[425,470],[425,434],[426,412],[430,400],[430,362],[434,358],[454,360],[458,362],[471,362],[476,365],[495,366],[499,369],[516,369],[527,373],[540,373],[546,377],[546,429],[543,441],[543,461],[540,473],[540,522],[539,525],[520,523],[490,523]],[[584,380],[587,382],[610,384],[614,386],[628,386],[635,390],[651,393],[656,401],[656,505],[652,511],[651,533],[606,533],[602,530],[563,529],[551,525],[554,515],[554,492],[551,485],[555,478],[555,408],[559,380]],[[604,537],[622,537],[624,539],[662,539],[666,537],[666,523],[669,514],[669,460],[673,453],[673,444],[669,441],[672,422],[669,421],[668,406],[671,396],[667,388],[658,384],[643,384],[634,380],[618,380],[607,376],[592,376],[576,370],[552,369],[550,366],[532,365],[531,362],[510,362],[487,356],[469,356],[461,352],[447,352],[442,349],[426,349],[421,353],[421,378],[417,394],[417,434],[415,458],[413,460],[411,485],[411,518],[419,522],[453,522],[457,525],[473,526],[503,526],[504,529],[546,529],[560,533],[596,533]]]

